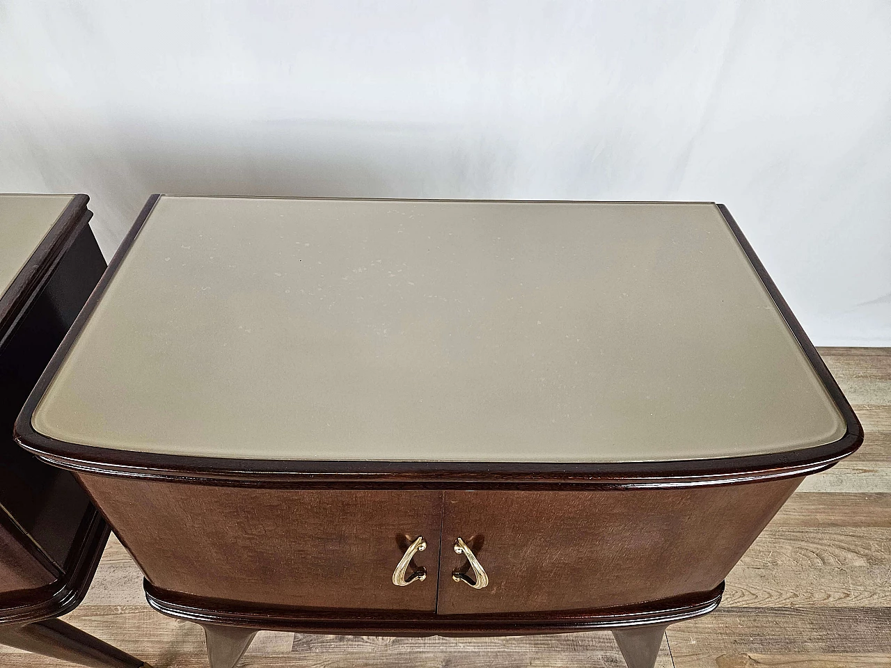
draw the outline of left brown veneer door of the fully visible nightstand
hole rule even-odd
[[[186,485],[84,475],[149,580],[195,596],[295,607],[436,609],[442,493]],[[424,582],[391,582],[418,535]]]

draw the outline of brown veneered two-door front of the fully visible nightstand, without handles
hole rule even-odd
[[[159,590],[441,615],[629,607],[691,592],[707,599],[800,482],[432,492],[79,477]],[[425,580],[393,586],[394,567],[419,536],[427,547],[408,572],[423,568]],[[454,582],[462,570],[474,579],[451,549],[458,537],[483,566],[486,588]]]

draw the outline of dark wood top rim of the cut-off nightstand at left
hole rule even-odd
[[[71,198],[28,262],[0,295],[0,348],[28,313],[30,305],[40,294],[46,281],[50,280],[53,270],[59,265],[65,251],[74,243],[78,232],[93,217],[93,212],[86,208],[89,200],[83,194]]]

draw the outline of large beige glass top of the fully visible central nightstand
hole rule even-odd
[[[33,416],[126,451],[607,462],[845,424],[712,204],[162,197]]]

